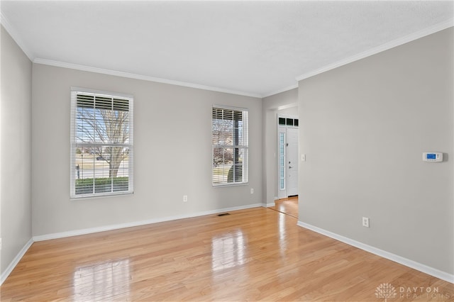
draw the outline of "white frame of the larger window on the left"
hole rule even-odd
[[[91,142],[81,143],[77,142],[77,95],[87,94],[97,97],[108,97],[112,99],[127,99],[128,100],[128,142],[127,143],[102,143],[102,142]],[[121,94],[118,92],[111,91],[100,91],[94,89],[87,89],[81,87],[71,87],[70,91],[70,199],[79,200],[85,198],[100,198],[118,195],[131,195],[134,194],[134,179],[133,179],[133,158],[134,158],[134,113],[133,104],[134,99],[132,94]],[[77,179],[77,168],[76,168],[76,153],[77,148],[85,147],[128,147],[128,190],[126,191],[109,191],[109,192],[93,192],[91,194],[76,194],[76,179]],[[93,168],[94,169],[94,168]],[[93,177],[96,179],[96,177]],[[95,187],[94,187],[95,189]]]

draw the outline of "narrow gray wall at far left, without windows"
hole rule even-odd
[[[1,27],[1,265],[31,240],[32,63]]]

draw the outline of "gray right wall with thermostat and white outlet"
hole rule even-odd
[[[453,274],[453,81],[453,28],[301,80],[299,220]]]

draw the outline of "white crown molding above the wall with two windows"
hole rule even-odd
[[[69,69],[77,69],[77,70],[82,70],[84,72],[96,72],[99,74],[109,74],[109,75],[113,75],[116,77],[127,77],[130,79],[141,79],[141,80],[150,81],[150,82],[157,82],[157,83],[184,86],[184,87],[195,88],[195,89],[204,89],[204,90],[209,90],[209,91],[223,92],[226,94],[237,94],[240,96],[251,96],[251,97],[260,98],[260,99],[262,98],[262,96],[260,94],[251,94],[251,93],[244,92],[244,91],[223,89],[223,88],[206,86],[206,85],[201,85],[201,84],[194,84],[194,83],[189,83],[189,82],[180,82],[180,81],[174,81],[172,79],[162,79],[159,77],[149,77],[149,76],[145,76],[143,74],[131,74],[128,72],[118,72],[116,70],[111,70],[111,69],[89,67],[89,66],[85,66],[85,65],[78,65],[78,64],[72,64],[72,63],[67,63],[67,62],[41,59],[39,57],[35,58],[35,60],[33,60],[33,63],[41,64],[41,65],[50,65],[50,66],[55,66],[55,67],[63,67],[63,68],[69,68]]]

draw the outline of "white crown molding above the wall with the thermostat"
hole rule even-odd
[[[389,50],[391,48],[403,45],[405,43],[409,43],[411,41],[417,40],[419,38],[423,38],[426,35],[431,35],[433,33],[437,33],[438,31],[444,30],[446,28],[450,28],[454,26],[454,18],[450,18],[447,21],[437,23],[434,26],[430,26],[428,28],[424,28],[423,30],[420,30],[416,33],[411,33],[410,35],[406,35],[402,38],[392,40],[388,43],[384,43],[383,45],[380,45],[378,47],[374,47],[370,50],[366,50],[365,52],[360,52],[357,55],[353,55],[352,57],[347,57],[343,60],[340,60],[338,62],[335,62],[330,65],[326,65],[324,67],[321,67],[319,69],[316,69],[311,72],[307,72],[306,74],[301,74],[299,77],[297,77],[297,81],[301,81],[301,79],[307,79],[309,77],[314,77],[317,74],[321,74],[323,72],[327,72],[328,70],[335,69],[337,67],[341,67],[343,65],[347,65],[349,63],[364,59],[365,57],[370,57],[371,55],[376,55],[379,52],[383,52],[384,50]]]

